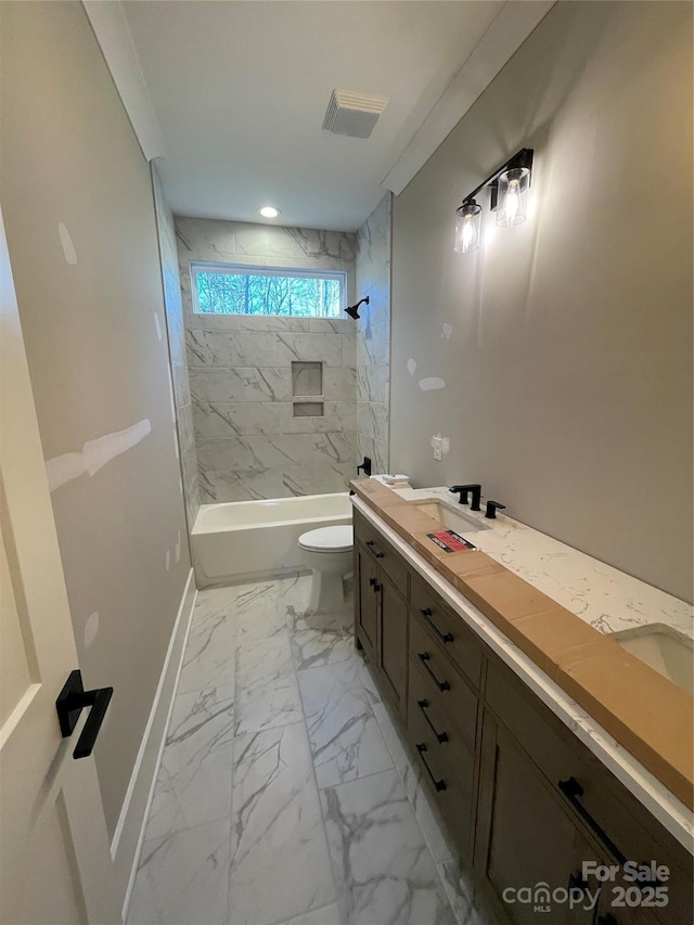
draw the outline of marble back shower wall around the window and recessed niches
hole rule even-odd
[[[201,502],[346,490],[358,462],[355,323],[194,314],[190,265],[342,270],[351,299],[356,235],[180,217],[176,233]],[[310,400],[323,416],[294,416],[293,362],[322,362]]]

